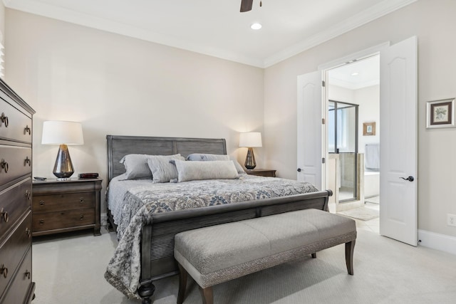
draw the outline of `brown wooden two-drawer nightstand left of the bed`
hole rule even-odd
[[[32,184],[32,235],[93,229],[100,235],[102,179],[48,179]]]

